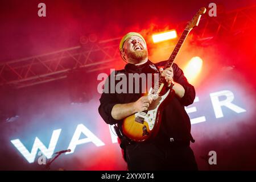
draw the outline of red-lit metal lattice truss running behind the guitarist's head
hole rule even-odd
[[[244,7],[217,14],[217,17],[201,19],[196,36],[199,41],[210,42],[222,36],[242,35],[256,25],[256,6]],[[178,24],[176,30],[183,30],[187,22]],[[120,61],[118,44],[121,37],[97,41],[95,35],[84,36],[80,46],[70,47],[43,55],[18,60],[2,61],[0,64],[0,85],[15,88],[41,84],[67,77],[72,69],[88,68],[88,72],[111,68]]]

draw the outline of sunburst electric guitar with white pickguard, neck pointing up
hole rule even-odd
[[[198,26],[201,15],[203,15],[205,11],[206,8],[201,7],[201,9],[197,11],[196,15],[193,16],[192,20],[187,24],[174,48],[174,51],[164,66],[164,69],[172,67],[175,57],[184,40],[187,38],[189,32],[194,27]],[[147,110],[137,112],[123,119],[122,130],[126,137],[137,142],[143,142],[144,140],[154,137],[158,133],[163,108],[171,98],[174,97],[174,90],[167,89],[164,81],[164,77],[160,76],[158,84],[155,84],[154,88],[150,88],[148,91],[148,95],[152,96],[154,100]]]

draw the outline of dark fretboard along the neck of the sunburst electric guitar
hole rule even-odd
[[[164,65],[164,69],[170,68],[170,67],[172,67],[172,64],[174,64],[175,57],[177,56],[177,53],[179,52],[179,50],[180,50],[180,48],[181,48],[181,46],[182,46],[184,40],[187,38],[189,31],[190,31],[190,30],[187,30],[187,29],[185,29],[185,30],[183,31],[182,35],[180,36],[179,41],[177,42],[177,44],[176,44],[176,46],[175,46],[175,48],[174,48],[174,51],[172,51],[172,54],[171,54],[171,56],[169,57],[169,59],[167,60],[166,65]],[[160,88],[160,85],[163,84],[164,80],[165,80],[164,77],[163,77],[163,76],[160,76],[159,81],[158,81],[158,84],[156,84],[156,85],[154,86],[154,89],[153,89],[153,92],[152,92],[152,93],[154,93],[154,94],[158,93],[158,90],[159,90],[159,88]]]

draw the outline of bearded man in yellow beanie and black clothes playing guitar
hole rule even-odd
[[[164,106],[162,122],[154,138],[140,142],[129,139],[122,132],[123,119],[140,111],[146,111],[153,102],[150,95],[137,93],[102,93],[99,113],[110,125],[117,124],[123,138],[125,159],[129,170],[196,170],[197,164],[189,144],[191,123],[184,106],[193,103],[195,89],[185,78],[183,71],[172,64],[162,67],[166,61],[153,64],[148,60],[148,51],[144,38],[136,32],[126,34],[120,43],[122,59],[127,61],[125,69],[115,71],[115,76],[122,73],[154,73],[156,68],[164,77],[166,87],[174,90],[174,97]],[[117,82],[115,83],[115,85]],[[129,86],[129,85],[128,85]],[[122,139],[123,139],[122,138]]]

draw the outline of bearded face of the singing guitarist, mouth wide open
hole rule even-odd
[[[147,58],[147,46],[139,36],[131,36],[123,44],[129,63],[138,64]]]

